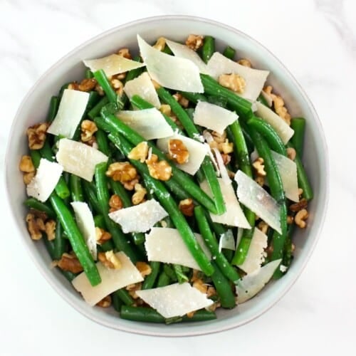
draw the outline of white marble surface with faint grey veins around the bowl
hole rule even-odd
[[[185,339],[108,330],[38,275],[9,222],[1,184],[0,355],[355,355],[354,0],[0,0],[1,171],[12,117],[41,73],[108,28],[163,14],[204,16],[248,33],[314,103],[329,147],[330,206],[310,263],[276,306],[235,330]]]

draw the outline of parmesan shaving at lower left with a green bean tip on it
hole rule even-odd
[[[82,293],[85,302],[89,305],[95,305],[117,289],[143,281],[140,271],[138,271],[125,253],[117,252],[115,256],[121,263],[121,268],[119,269],[106,268],[103,263],[96,263],[101,277],[101,283],[98,286],[91,286],[84,272],[73,279],[73,287]]]

